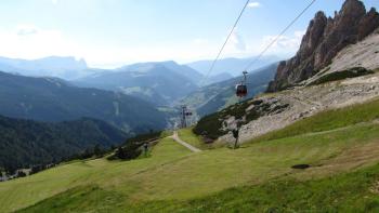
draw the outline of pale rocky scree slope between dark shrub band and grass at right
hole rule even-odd
[[[240,116],[241,118],[248,117],[250,111],[257,109],[260,114],[240,128],[239,142],[249,142],[252,138],[280,130],[324,110],[343,108],[377,99],[378,97],[379,72],[328,84],[299,86],[289,91],[264,94],[256,99],[246,102],[246,112],[244,116]],[[267,105],[270,108],[260,107]],[[235,123],[233,119],[224,120],[233,128],[233,123]],[[214,143],[235,142],[231,132],[224,133]]]

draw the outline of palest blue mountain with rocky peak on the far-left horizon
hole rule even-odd
[[[50,56],[40,59],[18,59],[0,57],[0,70],[34,77],[58,77],[66,80],[86,75],[88,66],[83,59]]]

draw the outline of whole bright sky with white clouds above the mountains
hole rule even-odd
[[[258,54],[310,0],[250,0],[222,57]],[[73,55],[93,67],[213,58],[245,0],[3,0],[0,55]],[[343,0],[317,0],[267,54],[290,56],[315,12]],[[378,0],[365,0],[379,8]]]

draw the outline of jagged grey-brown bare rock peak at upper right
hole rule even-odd
[[[378,27],[377,11],[371,9],[366,13],[364,3],[358,0],[347,0],[334,18],[326,17],[324,12],[316,13],[298,53],[279,64],[267,92],[284,90],[311,78],[328,66],[338,52],[363,40]]]

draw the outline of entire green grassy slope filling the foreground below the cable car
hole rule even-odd
[[[331,111],[329,116],[337,114]],[[355,117],[362,118],[362,114],[364,111]],[[0,212],[27,207],[24,212],[54,209],[63,212],[282,212],[376,208],[379,124],[352,122],[347,125],[330,131],[340,125],[321,130],[315,124],[314,130],[324,132],[297,132],[297,135],[252,143],[237,150],[219,148],[198,154],[167,137],[154,148],[151,158],[75,162],[0,183]],[[303,171],[291,169],[300,163],[312,167]],[[369,165],[374,167],[362,170]]]

